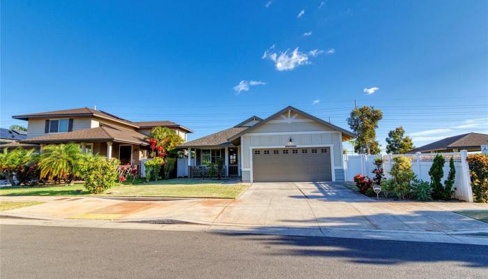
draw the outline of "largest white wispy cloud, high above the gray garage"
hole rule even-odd
[[[300,52],[298,47],[296,47],[293,52],[289,52],[286,50],[285,52],[270,52],[273,50],[275,45],[271,46],[268,50],[266,50],[261,57],[262,59],[270,59],[271,61],[275,62],[276,70],[293,70],[297,66],[300,65],[307,65],[310,64],[310,57],[319,56],[323,54],[323,50],[310,50],[310,52]],[[332,52],[333,53],[333,52]],[[327,54],[330,54],[328,51]]]

